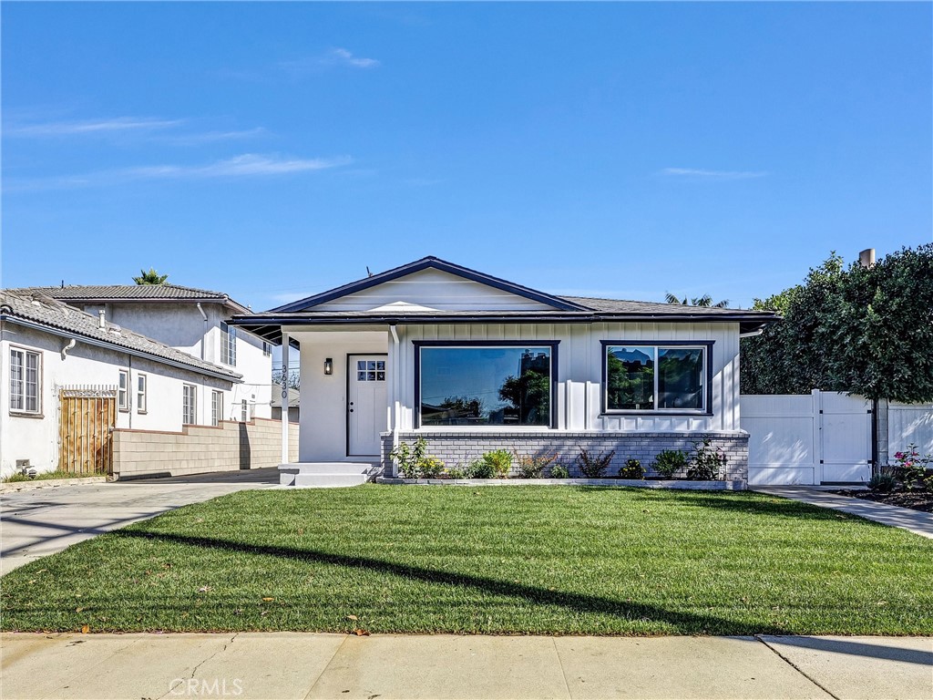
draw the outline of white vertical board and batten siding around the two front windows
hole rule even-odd
[[[558,341],[555,407],[558,429],[644,432],[740,429],[738,324],[433,324],[399,326],[397,331],[402,357],[394,357],[393,343],[389,343],[388,351],[389,367],[401,373],[397,386],[402,430],[414,427],[415,341]],[[602,341],[713,341],[713,414],[601,414]]]

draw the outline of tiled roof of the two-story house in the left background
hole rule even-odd
[[[9,291],[20,294],[43,295],[60,301],[84,301],[105,303],[107,301],[206,301],[229,306],[239,314],[248,314],[250,309],[239,301],[233,301],[223,292],[182,287],[181,285],[66,285],[64,287],[22,287]]]

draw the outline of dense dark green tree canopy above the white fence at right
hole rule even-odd
[[[871,268],[846,268],[833,253],[802,285],[754,308],[783,320],[743,339],[743,393],[933,400],[933,245],[905,247]]]

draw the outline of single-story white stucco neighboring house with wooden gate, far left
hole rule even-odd
[[[0,291],[0,475],[113,470],[115,430],[217,426],[242,375],[42,294]]]

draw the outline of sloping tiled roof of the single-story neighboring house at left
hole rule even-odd
[[[85,314],[73,306],[41,295],[24,294],[21,290],[0,290],[0,321],[77,338],[83,343],[146,357],[162,364],[180,367],[200,374],[239,382],[243,375],[215,365],[199,357],[177,350],[132,330],[113,323],[100,328],[100,319]]]

